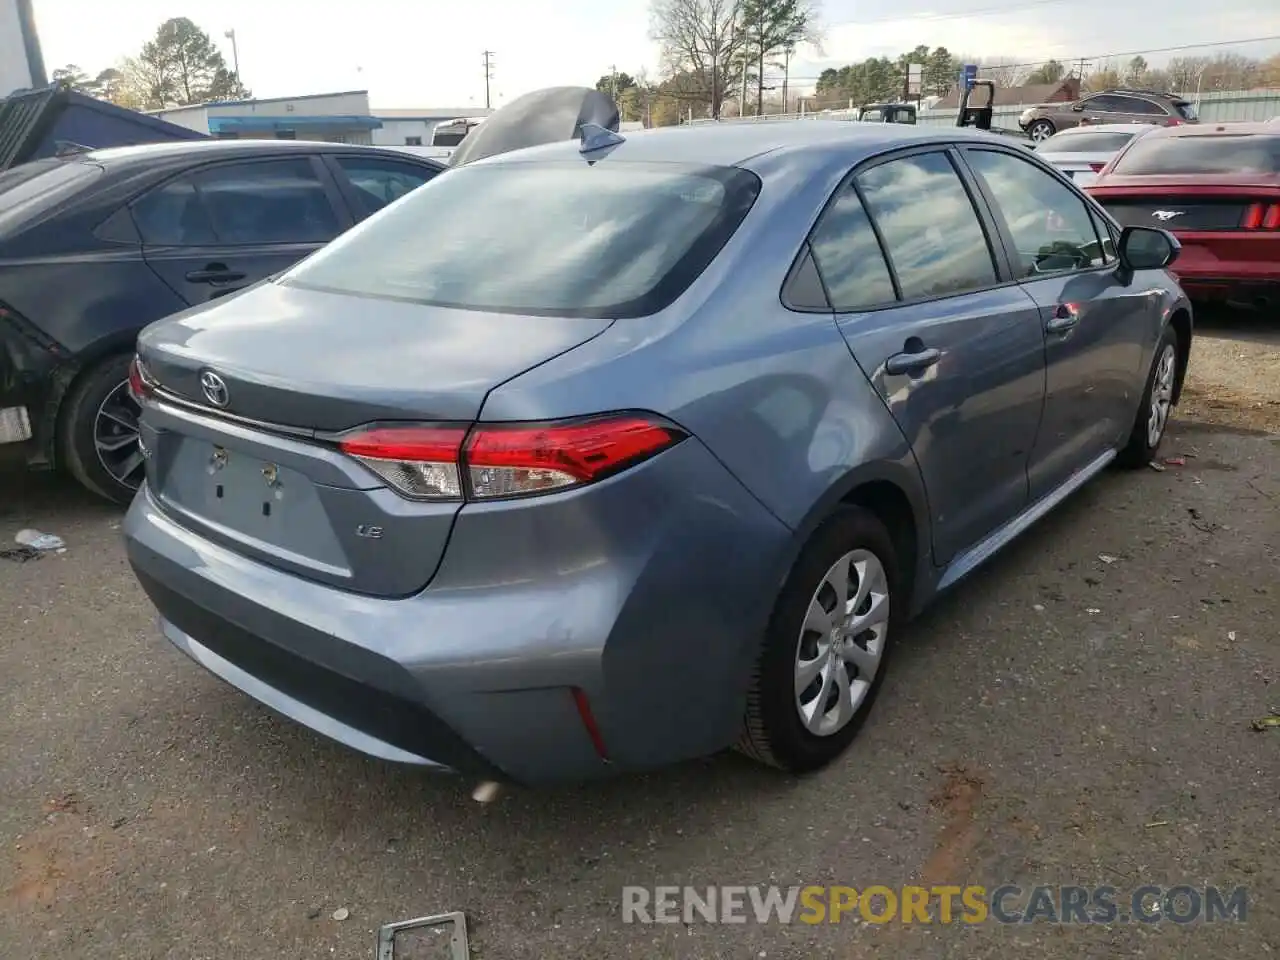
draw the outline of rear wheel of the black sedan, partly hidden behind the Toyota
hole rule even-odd
[[[114,503],[127,504],[142,484],[138,413],[127,355],[86,372],[63,406],[63,462],[81,485]]]

